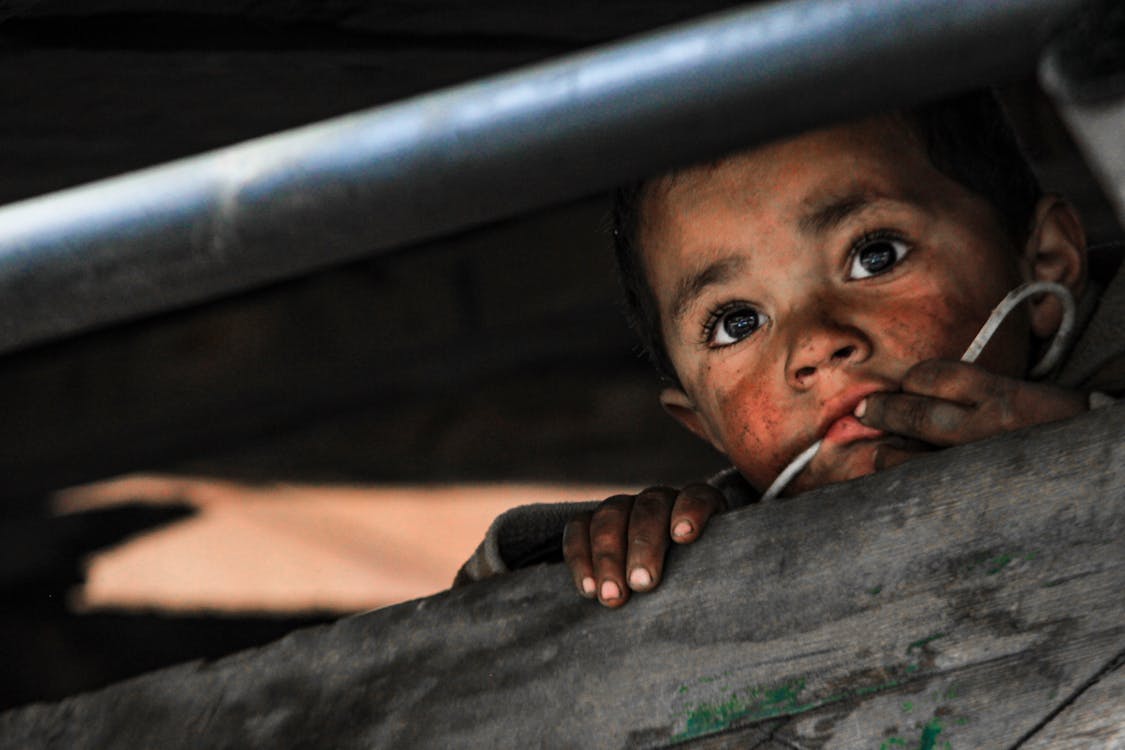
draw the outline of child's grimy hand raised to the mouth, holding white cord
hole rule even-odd
[[[907,371],[901,392],[872,394],[855,415],[871,427],[945,446],[1065,419],[1086,412],[1087,405],[1087,395],[1078,391],[1006,378],[975,364],[928,360]],[[876,468],[914,454],[884,445]]]

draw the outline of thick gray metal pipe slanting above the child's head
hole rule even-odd
[[[738,10],[12,204],[0,209],[0,352],[1009,79],[1076,4]]]

